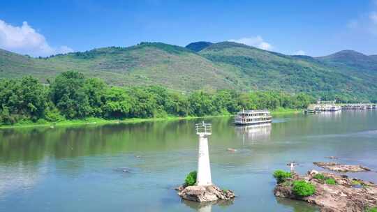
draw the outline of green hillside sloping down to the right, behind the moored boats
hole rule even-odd
[[[239,43],[216,43],[200,52],[224,68],[239,73],[239,80],[258,90],[309,92],[318,95],[371,98],[377,86],[369,79],[350,77],[342,70],[309,56],[287,56]]]

